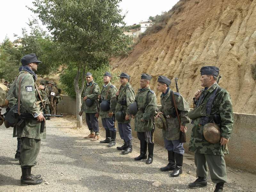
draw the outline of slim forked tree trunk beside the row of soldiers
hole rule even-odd
[[[76,77],[74,79],[74,85],[75,85],[75,91],[76,91],[76,127],[82,127],[83,126],[82,116],[78,115],[78,113],[81,110],[81,104],[82,104],[81,95],[82,95],[82,92],[84,90],[85,69],[83,68],[81,89],[79,89],[80,72],[81,72],[81,66],[78,66]]]

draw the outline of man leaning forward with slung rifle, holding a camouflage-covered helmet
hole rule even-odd
[[[157,90],[161,94],[161,108],[156,118],[163,114],[166,119],[166,129],[163,129],[164,147],[168,151],[169,163],[160,168],[161,171],[172,171],[172,177],[178,177],[182,173],[184,148],[180,143],[180,132],[186,132],[186,124],[189,122],[187,101],[180,93],[173,92],[170,89],[171,80],[165,76],[159,76],[157,79]],[[180,115],[180,122],[175,110],[175,103]]]

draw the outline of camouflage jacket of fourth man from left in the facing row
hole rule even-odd
[[[156,111],[156,94],[150,90],[150,87],[139,89],[135,101],[137,101],[137,107],[139,108],[139,111],[135,116],[135,131],[146,132],[154,129],[151,117],[154,118],[154,113]],[[141,120],[145,120],[145,122],[142,122]]]

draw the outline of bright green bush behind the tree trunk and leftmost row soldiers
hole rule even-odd
[[[103,75],[106,71],[111,71],[109,66],[102,66],[95,70],[90,70],[88,68],[85,69],[85,72],[91,72],[93,75],[94,81],[101,87],[103,86]],[[66,94],[70,97],[76,98],[76,91],[74,87],[74,78],[76,77],[77,67],[72,67],[69,65],[67,68],[63,68],[60,74],[60,84],[58,85]],[[115,83],[117,81],[117,73],[112,74],[111,82]],[[82,74],[80,74],[79,78],[79,87],[82,85]],[[85,81],[86,83],[86,81]]]

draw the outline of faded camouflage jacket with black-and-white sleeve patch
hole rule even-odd
[[[20,79],[20,112],[38,116],[40,114],[40,108],[36,106],[35,102],[40,99],[38,98],[38,94],[35,89],[35,79],[32,74],[25,71],[21,71],[19,73],[13,87],[13,96],[18,100]],[[25,127],[18,130],[18,137],[28,137],[39,140],[46,138],[45,126],[44,132],[40,133],[41,122],[38,122],[35,119],[26,120],[25,122]]]

